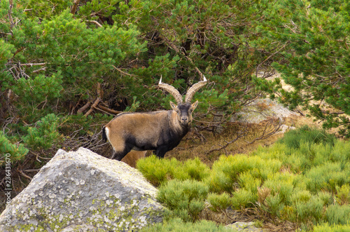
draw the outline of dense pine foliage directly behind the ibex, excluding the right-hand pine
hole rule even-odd
[[[86,146],[81,137],[97,139],[111,119],[92,107],[94,127],[77,135],[77,126],[91,118],[74,121],[72,115],[87,102],[99,100],[119,111],[169,109],[172,96],[160,97],[153,88],[161,75],[186,93],[205,74],[209,85],[195,96],[201,101],[197,112],[237,111],[269,86],[254,76],[265,59],[265,53],[250,45],[256,37],[251,22],[262,20],[265,7],[256,4],[1,1],[1,151],[26,158],[25,149],[43,156],[49,144],[55,149],[69,149],[74,142]],[[52,128],[42,125],[48,115],[58,123]],[[55,134],[45,135],[55,126]]]

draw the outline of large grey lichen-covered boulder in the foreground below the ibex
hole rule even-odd
[[[138,231],[162,221],[157,189],[138,170],[84,148],[56,155],[13,198],[0,231]]]

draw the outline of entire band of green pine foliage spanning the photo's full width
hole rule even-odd
[[[1,150],[13,153],[10,144],[18,144],[13,157],[25,157],[22,146],[67,146],[57,137],[75,130],[58,130],[55,139],[37,130],[29,139],[29,128],[48,114],[75,128],[83,122],[66,118],[99,97],[111,109],[169,108],[172,96],[153,88],[161,75],[186,93],[205,74],[197,111],[231,114],[276,90],[279,81],[266,78],[277,69],[294,87],[281,90],[283,102],[309,107],[325,127],[341,126],[349,136],[346,1],[77,2],[1,1]],[[99,118],[90,134],[105,123]]]

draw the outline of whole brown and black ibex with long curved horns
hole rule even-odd
[[[158,86],[173,95],[176,104],[169,102],[172,110],[148,113],[121,113],[102,130],[102,138],[113,147],[111,158],[120,161],[129,151],[155,150],[155,155],[164,158],[167,151],[179,145],[190,130],[192,113],[198,101],[191,104],[193,95],[207,84],[207,79],[195,83],[186,93],[185,103],[174,86],[162,83]]]

